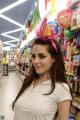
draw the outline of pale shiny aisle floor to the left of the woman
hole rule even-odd
[[[11,110],[11,103],[17,95],[22,81],[16,71],[4,76],[0,85],[0,116],[4,115],[4,120],[13,120],[14,112]],[[1,119],[0,119],[1,120]]]

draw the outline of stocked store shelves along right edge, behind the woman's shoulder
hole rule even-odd
[[[65,61],[67,80],[73,92],[72,119],[70,120],[80,120],[80,39],[78,39],[78,34],[80,35],[80,0],[74,0],[68,8],[73,10],[70,29],[76,33],[66,42],[67,48],[71,48],[71,50],[67,49],[70,58]],[[75,23],[73,23],[74,20],[76,20]]]

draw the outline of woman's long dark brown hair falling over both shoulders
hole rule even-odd
[[[49,94],[53,92],[55,89],[55,83],[67,83],[66,80],[66,71],[65,71],[65,66],[64,66],[64,61],[63,61],[63,55],[61,52],[60,45],[54,40],[54,44],[56,45],[57,50],[54,48],[52,45],[51,41],[49,39],[42,40],[41,38],[36,38],[34,41],[34,45],[47,45],[48,46],[48,52],[50,53],[51,57],[55,59],[55,63],[52,65],[50,69],[50,76],[51,76],[51,81],[52,81],[52,86]],[[18,98],[24,93],[24,91],[31,85],[32,81],[39,78],[39,75],[36,73],[34,67],[32,66],[30,69],[30,75],[27,76],[22,84],[22,87],[16,96],[12,109],[14,108],[15,102],[18,100]]]

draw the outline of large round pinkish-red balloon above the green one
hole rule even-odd
[[[71,19],[72,19],[71,9],[63,10],[57,16],[58,23],[63,28],[68,28],[71,26]]]

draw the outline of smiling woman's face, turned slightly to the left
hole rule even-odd
[[[48,46],[46,45],[34,45],[32,48],[32,64],[36,73],[43,74],[48,73],[55,60],[48,52]]]

